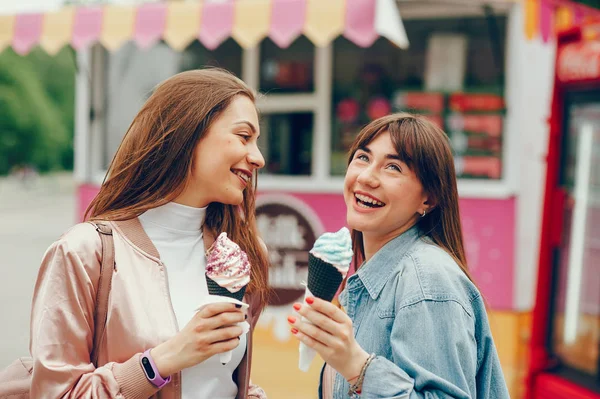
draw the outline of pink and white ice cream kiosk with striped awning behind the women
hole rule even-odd
[[[345,224],[352,139],[396,111],[426,115],[450,137],[469,268],[511,394],[522,395],[554,32],[587,8],[562,0],[69,3],[0,10],[0,51],[75,50],[79,217],[156,84],[219,66],[260,93],[266,166],[257,220],[274,295],[255,332],[252,378],[272,397],[316,396],[322,363],[297,371],[286,317],[304,293],[307,250]]]

